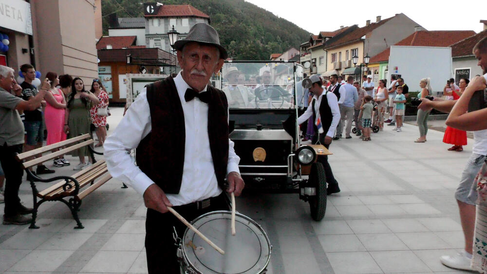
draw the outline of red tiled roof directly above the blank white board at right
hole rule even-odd
[[[475,35],[474,31],[417,31],[395,43],[394,46],[448,47],[472,35]],[[391,48],[389,47],[371,57],[369,63],[387,61],[390,54]]]

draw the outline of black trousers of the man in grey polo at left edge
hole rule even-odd
[[[5,173],[4,213],[7,217],[15,216],[20,205],[19,188],[24,170],[22,164],[15,159],[17,153],[22,153],[22,144],[7,146],[5,143],[0,146],[0,164]]]

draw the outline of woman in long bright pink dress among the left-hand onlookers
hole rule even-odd
[[[61,90],[57,89],[59,78],[56,73],[49,72],[46,77],[51,81],[51,89],[46,93],[46,109],[44,110],[44,119],[46,120],[47,145],[56,144],[66,140],[66,133],[63,131],[64,115],[66,109],[66,99]],[[64,159],[64,155],[54,159],[54,166],[70,165]]]

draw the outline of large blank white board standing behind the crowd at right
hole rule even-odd
[[[433,94],[443,91],[446,81],[452,77],[451,48],[391,46],[391,74],[401,74],[410,92],[420,91],[419,81],[427,77],[431,78]]]

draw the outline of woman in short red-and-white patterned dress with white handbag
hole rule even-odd
[[[106,109],[108,111],[108,94],[104,91],[103,85],[98,79],[93,80],[90,91],[100,100],[100,103],[94,105],[90,110],[92,123],[96,128],[96,136],[98,137],[98,144],[95,147],[99,147],[103,146],[105,139],[107,139],[107,128],[105,127],[107,125],[107,116],[98,115],[97,112],[98,109]]]

